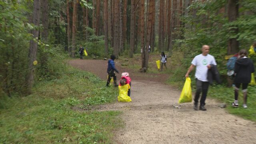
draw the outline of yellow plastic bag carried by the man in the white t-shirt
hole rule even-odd
[[[180,94],[179,104],[184,102],[192,102],[191,79],[186,78],[182,92]]]

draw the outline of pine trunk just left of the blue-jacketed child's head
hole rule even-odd
[[[108,56],[108,0],[104,0],[105,55]]]

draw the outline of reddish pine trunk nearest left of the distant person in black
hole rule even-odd
[[[77,3],[73,1],[73,20],[72,20],[72,50],[71,57],[75,58],[75,45],[76,45],[76,18],[77,18]]]

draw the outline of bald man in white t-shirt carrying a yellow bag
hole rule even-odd
[[[204,108],[205,100],[207,96],[207,91],[209,87],[209,82],[207,79],[208,69],[211,68],[210,64],[216,64],[214,57],[208,54],[210,51],[210,47],[208,45],[202,46],[202,54],[197,55],[191,62],[191,66],[188,68],[188,72],[185,77],[188,77],[189,73],[196,66],[196,94],[194,97],[194,110],[198,110],[198,99],[200,93],[202,91],[202,96],[200,99],[200,107],[199,110],[206,110]]]

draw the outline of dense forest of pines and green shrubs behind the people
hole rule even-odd
[[[212,47],[224,56],[256,40],[255,0],[1,0],[0,95],[28,94],[58,78],[81,44],[94,58],[178,51],[184,66]],[[150,52],[148,52],[150,46]]]

